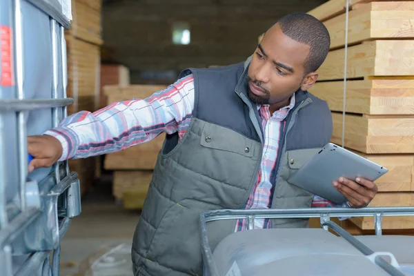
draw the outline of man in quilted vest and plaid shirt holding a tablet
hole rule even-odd
[[[199,215],[206,210],[334,206],[288,183],[332,135],[326,102],[306,90],[328,53],[324,25],[289,14],[243,63],[189,69],[166,90],[97,112],[79,112],[29,137],[30,170],[150,141],[162,148],[132,248],[135,275],[201,275]],[[353,208],[377,193],[371,181],[333,185]],[[306,227],[307,219],[256,219],[255,228]],[[246,221],[209,223],[210,245]]]

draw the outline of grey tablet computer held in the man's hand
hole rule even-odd
[[[304,188],[314,195],[343,204],[346,197],[339,193],[332,182],[339,177],[355,181],[362,177],[375,181],[388,172],[387,168],[375,164],[362,156],[332,143],[326,144],[311,160],[299,168],[288,182]]]

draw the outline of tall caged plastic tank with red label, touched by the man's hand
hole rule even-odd
[[[68,163],[28,174],[28,135],[67,116],[70,0],[0,2],[0,275],[59,275],[60,241],[81,213]],[[52,253],[52,267],[50,255]]]

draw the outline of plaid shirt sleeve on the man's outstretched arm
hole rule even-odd
[[[148,142],[162,132],[181,136],[190,124],[193,106],[194,79],[188,75],[147,99],[77,112],[43,134],[61,142],[59,161],[103,155]]]

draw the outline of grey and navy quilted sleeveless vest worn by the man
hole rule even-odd
[[[202,275],[199,215],[206,210],[243,208],[262,159],[263,130],[257,108],[246,94],[244,63],[188,69],[195,79],[190,126],[164,143],[135,230],[134,274]],[[279,146],[272,208],[309,208],[313,195],[286,179],[332,133],[327,104],[308,92],[296,92]],[[273,227],[306,227],[307,219],[273,219]],[[234,232],[235,220],[208,223],[210,246]]]

